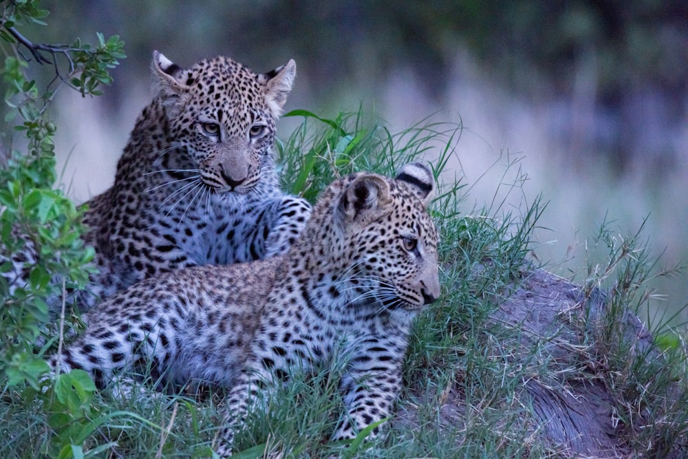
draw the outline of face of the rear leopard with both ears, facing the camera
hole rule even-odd
[[[153,68],[167,136],[190,160],[186,169],[217,193],[248,193],[272,167],[267,156],[296,75],[294,61],[255,74],[224,56],[182,69],[155,52]]]

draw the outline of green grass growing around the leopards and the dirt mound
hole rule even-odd
[[[394,175],[414,160],[430,161],[436,176],[446,179],[442,169],[461,133],[460,125],[426,122],[392,133],[361,111],[333,120],[307,111],[288,116],[300,116],[303,122],[277,144],[283,183],[309,200],[340,175],[359,170]],[[508,165],[508,171],[513,169],[517,164]],[[517,170],[515,178],[509,176],[505,171],[504,180],[495,184],[495,196],[502,195],[497,188],[504,186],[519,193],[524,175]],[[682,341],[658,341],[670,345],[634,352],[634,343],[623,333],[626,311],[647,301],[644,282],[656,275],[639,235],[619,238],[603,224],[592,237],[591,248],[606,248],[607,253],[603,264],[591,262],[583,291],[592,298],[598,288],[608,290],[608,308],[602,317],[575,324],[585,344],[577,356],[580,366],[568,361],[562,367],[542,343],[524,348],[522,330],[495,322],[492,315],[533,268],[527,255],[544,202],[538,198],[523,209],[505,209],[504,202],[495,200],[464,209],[470,184],[449,179],[431,207],[441,237],[442,298],[413,328],[405,389],[396,416],[385,423],[387,437],[375,442],[361,437],[348,446],[328,441],[343,415],[337,392],[340,361],[315,375],[298,376],[265,401],[268,409],[253,413],[246,431],[237,436],[235,456],[568,457],[566,450],[537,435],[540,426],[523,396],[524,383],[545,381],[563,390],[581,378],[601,382],[613,395],[619,434],[637,456],[661,457],[671,445],[685,445],[688,386]],[[652,331],[658,337],[679,337],[663,323],[654,324]],[[586,365],[596,366],[581,371]],[[0,432],[6,440],[0,442],[0,457],[54,457],[58,451],[65,458],[211,457],[222,420],[220,394],[182,393],[142,403],[95,393],[78,402],[83,402],[78,409],[84,416],[64,419],[63,427],[78,427],[65,434],[68,429],[55,429],[57,415],[49,412],[54,396],[4,389]],[[451,416],[448,401],[453,402]],[[69,438],[78,446],[69,447]]]

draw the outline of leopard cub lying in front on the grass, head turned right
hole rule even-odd
[[[420,162],[396,178],[339,178],[287,253],[134,284],[89,311],[85,334],[50,356],[50,367],[85,370],[100,389],[143,368],[182,387],[223,389],[217,452],[226,457],[257,400],[342,356],[345,414],[332,440],[354,438],[390,416],[413,319],[440,296],[427,209],[434,183]]]

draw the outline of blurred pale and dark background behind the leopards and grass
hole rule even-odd
[[[60,0],[33,41],[119,34],[128,57],[105,96],[58,99],[56,143],[77,202],[109,186],[151,98],[150,60],[225,54],[256,72],[297,61],[286,109],[334,118],[363,105],[391,131],[462,123],[446,177],[465,212],[542,194],[534,253],[564,277],[602,261],[603,222],[642,235],[657,269],[688,260],[688,3],[628,1]],[[299,120],[285,118],[286,138]],[[431,160],[432,158],[427,158]],[[507,164],[515,162],[513,167]],[[500,182],[521,182],[506,193]],[[505,175],[506,174],[506,175]],[[501,196],[504,194],[505,196]],[[508,195],[507,195],[508,194]],[[595,258],[600,256],[599,260]],[[658,279],[647,317],[688,320],[685,277]]]

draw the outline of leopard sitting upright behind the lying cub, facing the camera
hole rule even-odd
[[[152,70],[156,96],[136,120],[114,184],[85,204],[84,240],[98,269],[78,295],[82,310],[172,270],[285,253],[312,210],[281,190],[272,147],[293,60],[256,74],[226,56],[186,69],[155,51]],[[13,264],[4,274],[10,290],[38,257],[32,247],[4,257]]]

